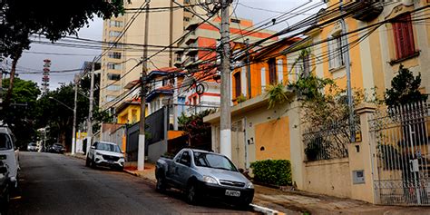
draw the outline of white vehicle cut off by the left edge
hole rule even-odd
[[[18,186],[18,151],[15,151],[15,135],[11,130],[1,124],[0,122],[0,161],[5,163],[7,170],[9,171],[10,181],[12,182],[12,187],[16,188]]]

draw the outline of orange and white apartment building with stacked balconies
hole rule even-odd
[[[217,64],[220,64],[217,53],[217,47],[220,45],[219,26],[219,17],[202,22],[200,17],[194,16],[185,27],[187,35],[179,42],[179,46],[185,49],[176,52],[174,65],[192,75],[184,78],[178,97],[188,106],[189,113],[195,112],[196,106],[202,111],[220,105],[220,76],[217,68]],[[252,43],[274,34],[269,30],[249,33],[252,28],[251,20],[230,18],[232,50],[238,49],[236,44],[245,40]],[[277,40],[277,37],[271,39],[273,42]]]

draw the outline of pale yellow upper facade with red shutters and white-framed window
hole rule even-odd
[[[338,3],[330,1],[327,8]],[[414,21],[415,17],[419,19],[429,14],[428,10],[422,10],[428,4],[426,0],[397,1],[384,5],[344,1],[344,13],[353,11],[353,15],[345,19],[353,89],[371,93],[376,88],[378,95],[382,96],[386,88],[391,87],[399,65],[404,64],[415,75],[422,74],[423,92],[428,93],[430,75],[426,72],[430,69],[430,27]],[[318,23],[331,18],[321,15]],[[312,53],[310,66],[315,68],[315,74],[333,79],[345,89],[347,65],[341,52],[346,47],[341,43],[341,33],[342,26],[337,21],[308,32],[308,44]],[[291,56],[288,64],[291,64],[298,53],[288,55]]]

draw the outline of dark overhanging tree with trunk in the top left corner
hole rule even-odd
[[[5,97],[8,105],[14,88],[16,64],[30,47],[31,34],[44,34],[57,41],[89,24],[94,16],[107,19],[123,13],[122,0],[75,0],[61,4],[54,0],[0,1],[0,54],[12,59],[11,79]]]

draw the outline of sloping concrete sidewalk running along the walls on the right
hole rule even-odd
[[[70,154],[69,154],[70,155]],[[85,159],[81,154],[74,157]],[[125,169],[127,173],[155,184],[155,165],[145,162],[144,171]],[[305,191],[281,191],[255,185],[254,210],[265,214],[429,214],[430,207],[379,206],[360,200],[342,199]]]

